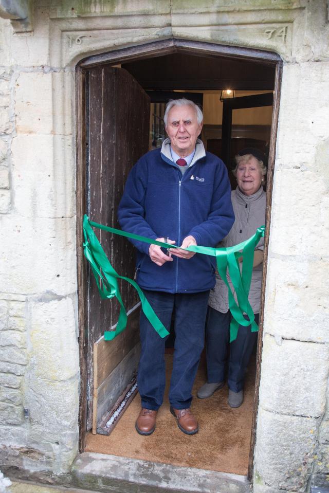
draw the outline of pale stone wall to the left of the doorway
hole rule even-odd
[[[60,474],[80,376],[71,107],[56,92],[74,77],[49,65],[49,13],[33,32],[0,21],[0,461]]]

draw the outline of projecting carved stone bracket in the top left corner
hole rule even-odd
[[[33,30],[33,0],[0,0],[0,17],[10,19],[15,32]]]

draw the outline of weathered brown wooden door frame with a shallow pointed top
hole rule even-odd
[[[257,372],[255,381],[255,396],[253,407],[253,419],[251,428],[251,445],[249,453],[248,478],[253,474],[253,455],[255,446],[255,428],[257,424],[257,410],[259,400],[260,366],[262,353],[262,333],[264,324],[264,300],[266,287],[267,253],[270,231],[273,172],[275,165],[276,139],[278,130],[278,115],[280,105],[280,91],[282,79],[283,62],[277,53],[259,49],[244,48],[237,46],[219,45],[203,41],[191,41],[182,39],[167,39],[154,41],[141,45],[129,46],[105,53],[96,54],[82,59],[76,65],[76,210],[77,210],[77,281],[78,281],[78,324],[79,324],[79,358],[81,369],[80,402],[79,402],[79,452],[83,452],[86,443],[86,419],[87,419],[87,341],[88,341],[88,307],[87,307],[87,268],[83,257],[83,231],[82,220],[87,210],[87,175],[86,175],[86,73],[90,67],[102,64],[117,64],[127,61],[137,61],[144,58],[154,58],[165,54],[177,52],[188,52],[198,56],[211,56],[213,58],[226,57],[259,61],[276,67],[275,90],[273,94],[273,112],[271,139],[269,146],[268,171],[267,171],[267,199],[266,199],[266,232],[264,238],[264,269],[261,292],[260,321],[258,349],[257,349]]]

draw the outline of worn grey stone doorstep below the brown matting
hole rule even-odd
[[[71,486],[101,493],[250,493],[245,476],[93,452],[78,455]]]

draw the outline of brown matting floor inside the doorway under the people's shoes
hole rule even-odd
[[[206,381],[206,362],[205,357],[202,358],[193,387],[192,411],[199,423],[199,431],[195,435],[182,433],[170,413],[168,390],[172,354],[166,354],[166,367],[165,401],[159,409],[154,433],[142,436],[135,430],[140,411],[140,396],[137,394],[109,436],[88,433],[85,450],[246,476],[255,361],[250,362],[246,374],[244,402],[240,408],[232,409],[227,404],[227,385],[209,399],[196,397],[197,389]]]

